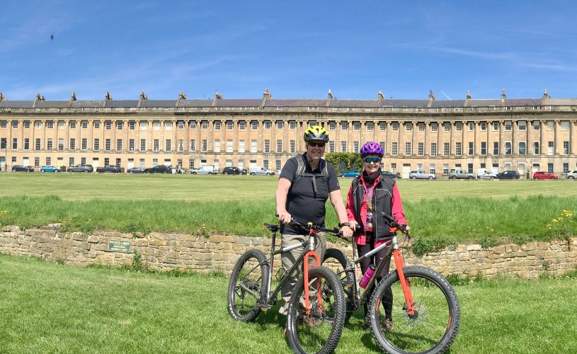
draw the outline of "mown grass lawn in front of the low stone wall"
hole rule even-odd
[[[452,353],[576,353],[577,273],[456,285]],[[0,255],[1,353],[290,353],[278,306],[255,323],[227,313],[227,278],[74,268]],[[377,353],[362,311],[337,353]]]

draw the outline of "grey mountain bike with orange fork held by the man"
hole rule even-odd
[[[341,338],[345,324],[345,299],[341,282],[335,273],[321,267],[319,255],[314,249],[319,232],[334,234],[335,231],[295,220],[290,222],[290,226],[302,234],[308,234],[308,239],[275,250],[276,233],[280,226],[264,224],[272,232],[270,258],[266,259],[258,249],[251,249],[236,261],[229,282],[229,314],[238,321],[254,321],[261,311],[267,311],[276,303],[280,290],[290,277],[302,273],[290,298],[285,337],[295,353],[331,353]],[[271,292],[275,255],[299,247],[304,249],[302,254]]]

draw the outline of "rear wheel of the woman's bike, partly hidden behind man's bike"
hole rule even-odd
[[[353,312],[355,312],[355,271],[350,268],[350,263],[345,253],[339,249],[326,249],[322,265],[332,270],[338,280],[341,281],[345,292],[345,322],[347,322]]]

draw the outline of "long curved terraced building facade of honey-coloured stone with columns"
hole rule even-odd
[[[514,169],[564,173],[577,168],[577,98],[463,100],[275,99],[11,101],[0,93],[0,166],[156,164],[280,169],[304,150],[302,134],[323,125],[326,152],[385,149],[384,169]]]

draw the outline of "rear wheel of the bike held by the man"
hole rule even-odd
[[[268,263],[258,249],[246,251],[232,269],[229,282],[229,314],[233,319],[251,322],[261,313],[266,297]]]

